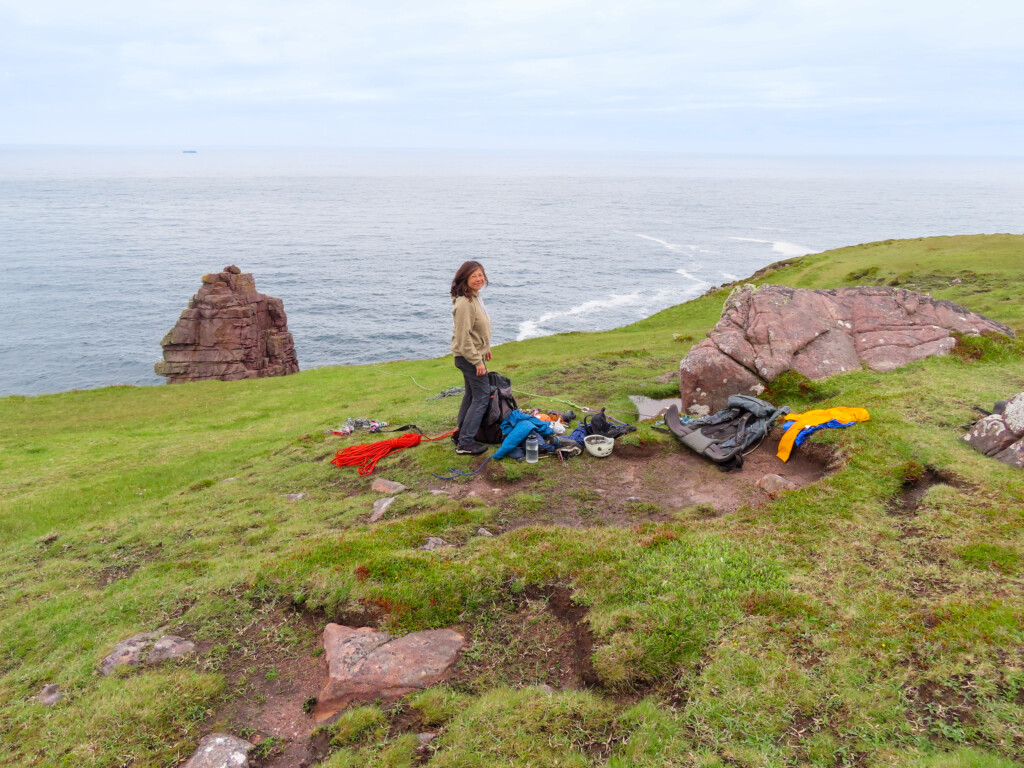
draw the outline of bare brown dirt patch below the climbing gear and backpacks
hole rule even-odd
[[[564,465],[542,462],[542,471],[508,480],[501,465],[489,463],[468,481],[436,484],[453,498],[478,497],[502,508],[502,528],[552,524],[567,527],[635,525],[676,518],[681,510],[697,507],[707,516],[734,512],[740,506],[760,506],[771,497],[755,483],[766,474],[778,474],[797,487],[815,482],[829,470],[831,453],[807,442],[788,462],[775,453],[781,430],[775,430],[746,456],[739,471],[723,472],[675,442],[629,445],[618,441],[607,459],[584,455]],[[539,495],[528,503],[521,495]]]

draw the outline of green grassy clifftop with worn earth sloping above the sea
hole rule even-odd
[[[1022,237],[868,244],[751,282],[900,286],[1024,335]],[[727,290],[505,344],[495,367],[521,403],[631,410],[628,394],[672,394],[654,377]],[[263,738],[264,765],[297,764],[266,712],[301,708],[285,683],[343,618],[458,626],[472,643],[452,684],[332,726],[327,766],[1013,765],[1024,477],[956,438],[973,406],[1024,390],[1022,349],[981,340],[889,374],[783,378],[777,404],[871,421],[815,436],[822,479],[728,514],[668,501],[680,447],[641,427],[605,464],[488,465],[473,495],[430,493],[432,472],[477,461],[424,443],[380,464],[411,489],[368,524],[379,495],[329,459],[375,438],[325,430],[349,416],[450,429],[458,403],[426,400],[460,383],[446,358],[0,399],[0,758],[175,765],[230,730]],[[627,459],[651,492],[612,502]],[[420,551],[428,536],[455,546]],[[158,629],[200,652],[95,674],[116,642]],[[66,691],[52,708],[33,699],[46,683]],[[426,755],[417,730],[439,732]]]

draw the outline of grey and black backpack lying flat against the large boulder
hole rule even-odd
[[[790,407],[775,408],[745,394],[730,395],[726,406],[717,414],[683,422],[673,403],[665,414],[665,424],[684,445],[728,471],[743,466],[743,455],[757,447],[755,443],[765,438],[778,417],[790,413]]]

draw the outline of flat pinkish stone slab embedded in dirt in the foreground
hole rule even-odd
[[[425,630],[392,639],[370,627],[329,624],[324,630],[328,679],[314,719],[324,722],[353,701],[393,701],[441,682],[466,642],[455,630]]]

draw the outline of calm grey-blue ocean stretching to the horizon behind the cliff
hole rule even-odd
[[[1024,159],[0,147],[0,395],[152,385],[236,264],[302,369],[445,354],[449,287],[496,343],[615,328],[773,261],[1024,232]]]

